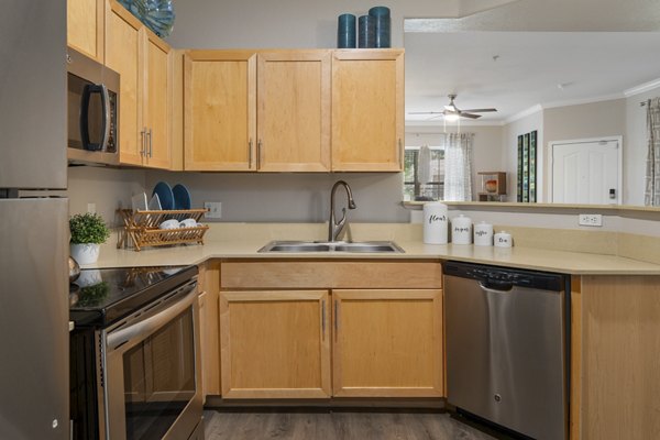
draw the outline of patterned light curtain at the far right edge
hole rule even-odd
[[[648,154],[644,204],[660,206],[660,98],[647,101]]]

